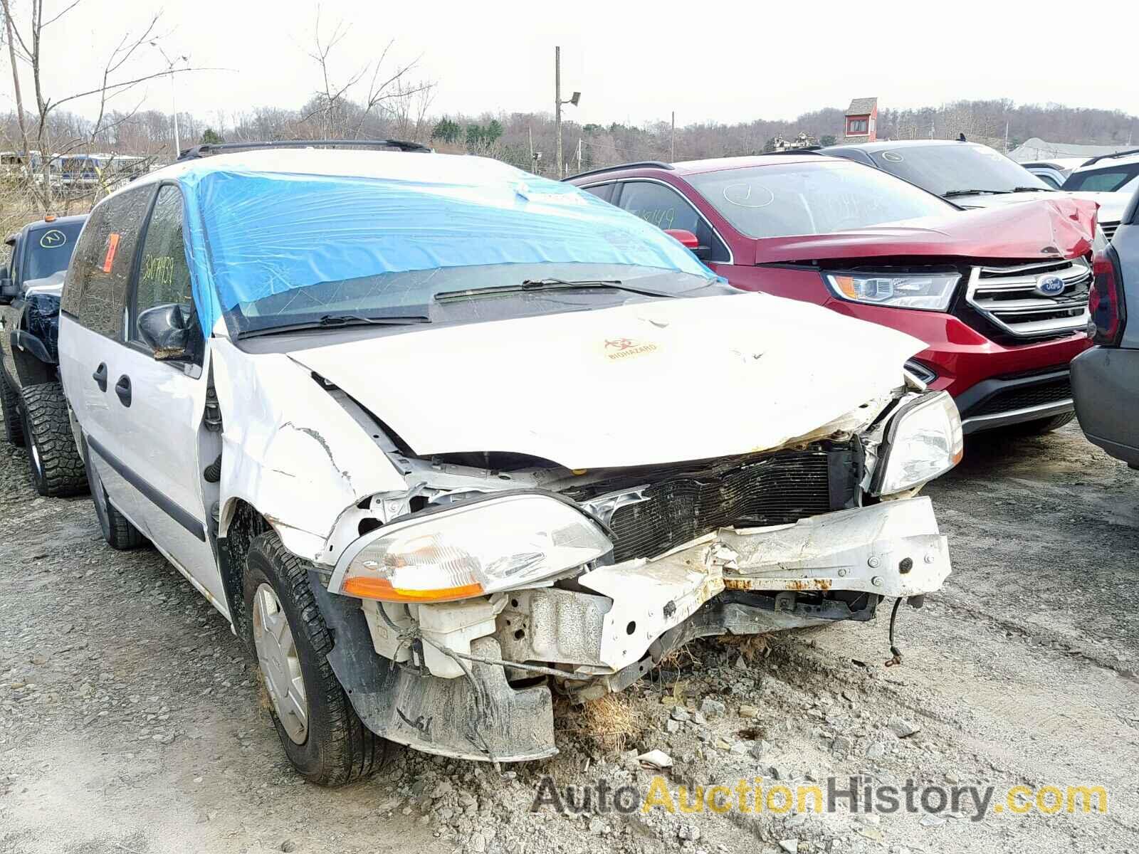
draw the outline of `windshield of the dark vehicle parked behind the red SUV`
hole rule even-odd
[[[985,146],[947,142],[943,146],[901,146],[867,154],[878,169],[939,196],[954,190],[1051,189],[1021,164]]]

